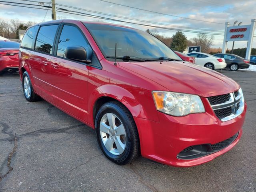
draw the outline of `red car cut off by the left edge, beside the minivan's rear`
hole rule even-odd
[[[20,43],[0,40],[0,72],[18,71]]]

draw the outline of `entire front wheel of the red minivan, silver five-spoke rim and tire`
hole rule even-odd
[[[95,131],[100,149],[112,162],[124,165],[138,156],[138,130],[132,115],[121,103],[107,102],[101,106]]]

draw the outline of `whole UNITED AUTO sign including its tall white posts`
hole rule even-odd
[[[245,58],[250,59],[255,25],[256,25],[256,19],[252,19],[250,25],[230,27],[230,23],[228,22],[225,23],[222,53],[226,53],[228,41],[233,41],[233,46],[234,46],[234,41],[248,41]]]

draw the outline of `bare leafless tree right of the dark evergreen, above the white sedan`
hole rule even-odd
[[[197,34],[197,37],[192,38],[191,40],[192,46],[201,46],[202,52],[208,52],[209,48],[213,45],[213,42],[214,36],[210,36],[204,33]]]

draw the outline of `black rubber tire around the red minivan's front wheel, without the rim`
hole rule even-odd
[[[119,155],[114,155],[108,151],[100,136],[100,121],[107,113],[116,115],[124,125],[126,132],[126,147],[124,152]],[[130,111],[120,102],[107,102],[100,107],[95,119],[95,132],[98,144],[104,155],[118,165],[128,164],[132,160],[136,159],[140,153],[140,143],[136,124]]]

